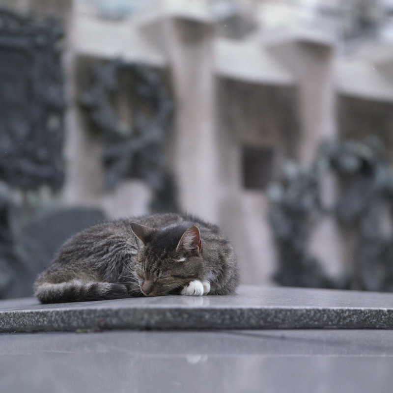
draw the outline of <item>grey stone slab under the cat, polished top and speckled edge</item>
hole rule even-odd
[[[0,332],[365,328],[393,329],[393,294],[244,285],[232,296],[0,302]]]

